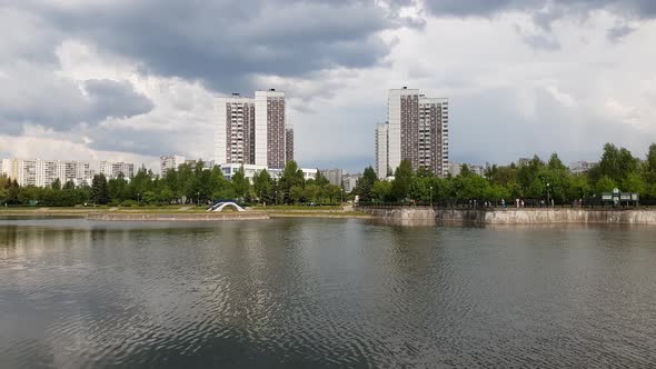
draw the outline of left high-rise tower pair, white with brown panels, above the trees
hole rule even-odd
[[[285,92],[256,91],[219,98],[215,162],[284,168],[294,158],[294,130],[286,124]]]

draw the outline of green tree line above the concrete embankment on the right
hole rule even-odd
[[[637,192],[642,200],[656,201],[656,143],[645,159],[636,158],[626,148],[604,146],[599,162],[584,173],[573,173],[557,153],[545,162],[535,156],[521,166],[487,166],[484,176],[467,166],[456,177],[439,178],[427,170],[413,171],[401,161],[394,180],[379,180],[371,167],[362,173],[354,193],[362,203],[438,203],[469,201],[499,203],[501,200],[528,199],[558,205],[588,201],[603,192],[619,189]]]

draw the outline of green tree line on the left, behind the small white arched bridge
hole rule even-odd
[[[219,167],[206,169],[202,160],[196,164],[181,164],[163,176],[141,168],[133,178],[122,174],[107,179],[93,176],[90,184],[76,186],[72,181],[40,188],[21,187],[16,179],[0,177],[0,203],[10,206],[38,205],[48,207],[73,207],[80,205],[109,205],[133,207],[139,205],[206,205],[216,200],[237,200],[241,203],[337,203],[344,196],[339,186],[317,173],[306,180],[295,161],[285,167],[279,179],[262,170],[256,173],[252,183],[240,168],[231,180],[225,178]]]

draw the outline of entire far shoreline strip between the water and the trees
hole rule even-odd
[[[362,219],[401,225],[644,225],[656,226],[656,209],[431,209],[361,208],[352,210],[257,209],[208,212],[201,209],[0,209],[0,217],[80,218],[89,221],[255,221],[282,218]]]

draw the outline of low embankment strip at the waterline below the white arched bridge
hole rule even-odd
[[[208,213],[125,213],[125,212],[91,212],[87,216],[93,221],[233,221],[233,220],[266,220],[266,212],[208,212]]]

